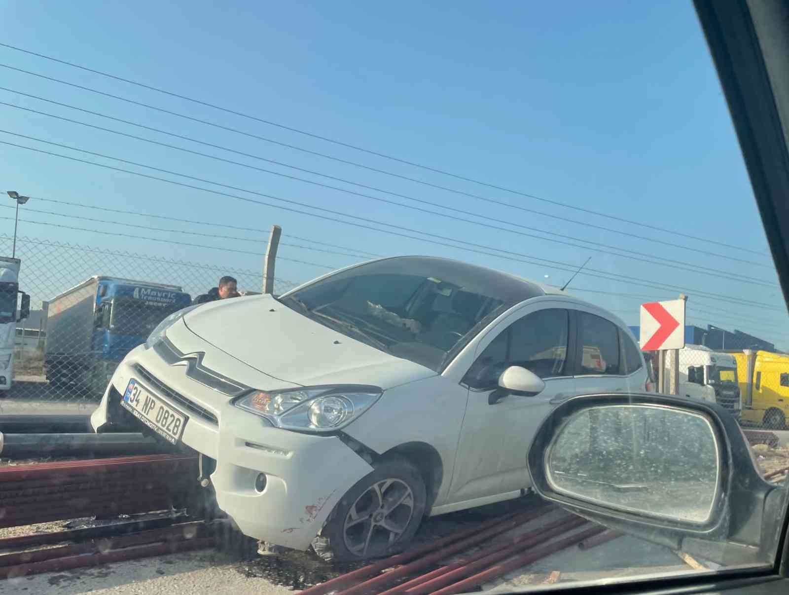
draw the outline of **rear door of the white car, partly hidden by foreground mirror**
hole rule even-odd
[[[596,313],[578,309],[573,316],[578,327],[578,392],[644,391],[646,371],[632,339],[611,320]]]

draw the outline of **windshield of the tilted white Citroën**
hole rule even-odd
[[[519,301],[534,283],[469,264],[406,256],[341,271],[282,303],[396,357],[440,371],[449,354]]]

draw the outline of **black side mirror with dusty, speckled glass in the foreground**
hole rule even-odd
[[[761,477],[714,403],[574,397],[545,418],[528,464],[540,496],[589,520],[724,565],[772,562],[789,486]]]

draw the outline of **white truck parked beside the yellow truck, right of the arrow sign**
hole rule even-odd
[[[671,369],[671,357],[666,358],[666,366]],[[717,403],[739,419],[742,402],[735,357],[703,345],[686,345],[679,350],[679,395]]]

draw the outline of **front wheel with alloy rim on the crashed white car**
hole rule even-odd
[[[326,561],[389,556],[422,522],[427,492],[419,470],[400,456],[384,458],[331,511],[312,549]]]

